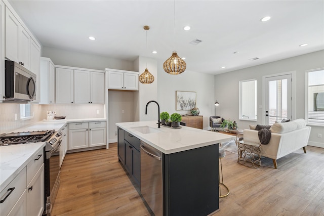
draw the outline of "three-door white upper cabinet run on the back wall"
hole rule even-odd
[[[56,103],[105,103],[105,73],[103,71],[58,66],[55,73]]]

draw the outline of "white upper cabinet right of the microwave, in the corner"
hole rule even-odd
[[[40,71],[37,77],[38,92],[40,92],[39,104],[55,103],[55,67],[49,58],[41,57]]]

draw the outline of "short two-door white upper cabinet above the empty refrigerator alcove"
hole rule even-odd
[[[138,72],[107,69],[108,89],[138,91]]]

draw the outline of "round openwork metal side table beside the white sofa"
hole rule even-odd
[[[237,163],[250,168],[261,167],[261,145],[249,141],[238,141]]]

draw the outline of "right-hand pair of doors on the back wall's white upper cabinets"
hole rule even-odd
[[[105,74],[102,72],[74,70],[74,103],[104,104]]]

